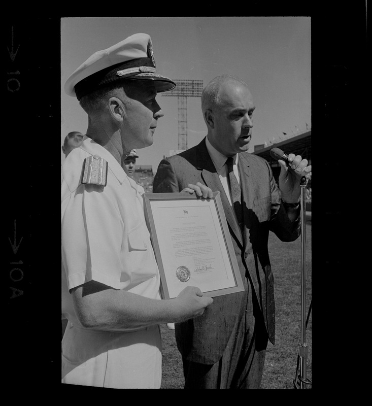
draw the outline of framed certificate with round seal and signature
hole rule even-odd
[[[186,286],[214,297],[244,290],[220,192],[144,193],[147,227],[155,252],[164,299]]]

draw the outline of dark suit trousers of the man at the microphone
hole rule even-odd
[[[218,362],[207,365],[183,359],[185,389],[259,389],[268,336],[251,292]]]

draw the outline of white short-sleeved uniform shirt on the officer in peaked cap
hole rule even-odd
[[[108,162],[107,185],[80,183],[83,162]],[[112,154],[85,137],[62,164],[62,318],[80,325],[69,290],[94,280],[160,299],[160,276],[145,223],[143,191]]]

